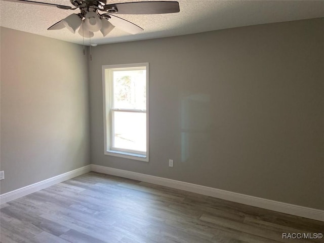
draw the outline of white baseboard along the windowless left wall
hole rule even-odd
[[[69,172],[63,173],[61,175],[51,177],[51,178],[46,179],[44,181],[39,181],[39,182],[36,182],[34,184],[21,187],[21,188],[19,188],[17,190],[13,190],[13,191],[9,191],[7,193],[1,194],[0,195],[0,205],[8,203],[8,201],[15,200],[15,199],[17,199],[19,197],[28,195],[30,193],[42,190],[42,189],[44,189],[46,187],[53,186],[53,185],[55,185],[57,183],[60,183],[62,181],[66,181],[66,180],[71,179],[73,177],[85,174],[87,172],[90,172],[90,169],[91,169],[90,165],[84,166],[84,167],[75,169],[73,171],[69,171]]]

